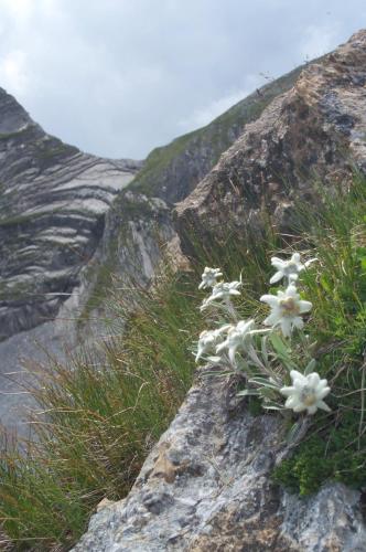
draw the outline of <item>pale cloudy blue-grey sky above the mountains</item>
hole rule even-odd
[[[363,26],[365,0],[0,0],[0,86],[62,140],[143,159]]]

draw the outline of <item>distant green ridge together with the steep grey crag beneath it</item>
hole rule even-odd
[[[164,244],[168,236],[174,235],[171,204],[183,200],[195,188],[213,169],[220,155],[240,136],[245,126],[256,120],[273,98],[293,86],[302,68],[300,66],[266,84],[206,127],[151,151],[107,215],[108,236],[104,240],[99,263],[95,265],[92,298],[83,316],[88,316],[93,308],[103,304],[108,293],[110,277],[105,277],[106,263],[109,276],[115,273],[125,278],[129,272],[139,282],[141,277],[146,282],[151,276],[151,269],[146,269],[141,259],[143,256],[149,257],[149,265],[155,266],[159,262],[157,241]],[[149,206],[151,200],[153,209]],[[148,248],[141,247],[143,241],[150,244]],[[134,261],[131,262],[132,257]],[[137,267],[142,267],[142,270]]]

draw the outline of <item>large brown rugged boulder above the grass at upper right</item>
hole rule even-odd
[[[192,227],[219,233],[257,223],[262,211],[287,224],[291,201],[311,198],[315,179],[349,179],[366,169],[366,31],[305,67],[222,156],[176,209],[190,250]]]

